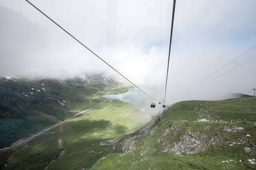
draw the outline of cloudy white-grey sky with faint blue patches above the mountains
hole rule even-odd
[[[150,95],[163,98],[172,1],[31,3]],[[255,0],[177,0],[168,103],[220,99],[256,87],[255,6]],[[1,0],[0,23],[0,76],[105,72],[120,78],[26,1]]]

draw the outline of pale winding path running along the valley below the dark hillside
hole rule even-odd
[[[99,107],[96,107],[96,108],[101,108],[103,106],[106,106],[107,104],[111,103],[113,100],[111,99],[108,103],[106,104],[103,104],[102,106],[99,106]],[[36,134],[33,134],[32,136],[26,138],[26,139],[20,139],[19,141],[13,143],[11,146],[8,146],[6,148],[2,148],[0,149],[0,151],[5,151],[5,150],[9,150],[9,149],[12,149],[12,148],[17,148],[19,146],[21,146],[22,144],[30,141],[31,139],[35,138],[36,136],[39,136],[40,134],[44,133],[44,132],[47,132],[47,131],[50,131],[51,129],[53,129],[54,127],[58,127],[59,125],[67,122],[68,120],[71,120],[72,118],[74,117],[77,117],[78,115],[81,115],[83,113],[86,113],[87,111],[90,111],[90,110],[94,110],[96,108],[90,108],[90,109],[87,109],[87,110],[84,110],[84,111],[80,111],[79,113],[76,113],[75,115],[73,115],[72,117],[70,118],[67,118],[66,120],[64,120],[63,122],[60,122],[58,124],[55,124],[55,125],[52,125],[51,127],[48,127],[46,129],[44,129],[43,131],[40,131],[40,132],[37,132]]]

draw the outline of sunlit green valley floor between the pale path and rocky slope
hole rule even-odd
[[[90,168],[100,157],[113,152],[113,140],[139,129],[145,121],[131,104],[112,101],[32,139],[20,151],[6,152],[8,160],[1,168]],[[62,147],[58,146],[59,139]]]

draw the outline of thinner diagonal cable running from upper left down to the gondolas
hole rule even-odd
[[[60,29],[62,29],[63,31],[65,31],[69,36],[71,36],[73,39],[75,39],[79,44],[81,44],[82,46],[84,46],[84,48],[86,48],[87,50],[89,50],[90,52],[93,53],[93,55],[95,55],[96,57],[98,57],[100,60],[102,60],[102,62],[104,62],[105,64],[107,64],[109,67],[111,67],[111,69],[113,69],[114,71],[116,71],[116,73],[120,74],[120,76],[122,76],[123,78],[125,78],[125,80],[129,81],[132,85],[134,85],[134,87],[136,87],[137,89],[139,89],[141,92],[143,92],[143,94],[145,94],[146,96],[148,96],[150,99],[154,100],[153,97],[149,96],[146,92],[144,92],[143,90],[140,89],[140,87],[138,87],[137,85],[135,85],[134,83],[132,83],[132,81],[128,80],[128,78],[126,78],[123,74],[121,74],[119,71],[117,71],[114,67],[112,67],[110,64],[108,64],[108,62],[106,62],[105,60],[103,60],[102,58],[99,57],[99,55],[97,55],[96,53],[94,53],[92,50],[90,50],[90,48],[88,48],[86,45],[84,45],[83,43],[81,43],[81,41],[79,41],[77,38],[75,38],[74,36],[72,36],[72,34],[70,34],[68,31],[66,31],[63,27],[61,27],[61,25],[59,25],[57,22],[55,22],[54,20],[52,20],[52,18],[48,17],[43,11],[41,11],[39,8],[37,8],[33,3],[29,2],[28,0],[27,3],[31,4],[31,6],[33,6],[36,10],[40,11],[40,13],[42,13],[45,17],[47,17],[49,20],[51,20],[51,22],[53,22],[54,24],[56,24],[58,27],[60,27]]]

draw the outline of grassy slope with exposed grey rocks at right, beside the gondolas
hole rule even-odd
[[[255,122],[256,97],[176,103],[92,169],[256,169]]]

